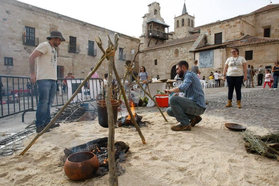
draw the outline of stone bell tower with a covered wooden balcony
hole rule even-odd
[[[160,9],[160,4],[153,2],[148,5],[148,13],[142,17],[142,34],[139,38],[144,44],[141,45],[140,50],[160,45],[168,40],[169,25],[161,17]]]

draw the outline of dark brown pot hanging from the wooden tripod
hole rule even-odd
[[[113,121],[115,125],[117,122],[118,101],[117,100],[110,100],[110,101],[113,107]],[[97,101],[97,111],[98,111],[98,121],[100,126],[108,128],[108,111],[107,111],[106,100]]]

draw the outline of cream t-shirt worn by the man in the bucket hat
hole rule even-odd
[[[35,49],[42,52],[37,59],[37,80],[57,80],[57,52],[49,42],[43,42]]]

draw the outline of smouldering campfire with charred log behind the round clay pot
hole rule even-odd
[[[118,165],[118,162],[125,161],[125,153],[130,147],[123,141],[117,141],[114,144],[114,147],[117,173],[122,175],[125,173],[125,170],[120,165]],[[97,156],[99,161],[99,169],[97,170],[95,176],[103,176],[108,173],[108,137],[95,139],[87,142],[86,144],[64,149],[66,158],[73,153],[82,151],[92,152]]]

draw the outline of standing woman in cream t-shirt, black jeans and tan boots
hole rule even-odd
[[[237,47],[232,48],[231,54],[232,57],[227,59],[223,72],[223,79],[225,80],[227,78],[228,83],[228,103],[225,107],[232,106],[232,94],[235,89],[237,108],[241,108],[241,85],[247,79],[246,60],[244,57],[239,56]]]

